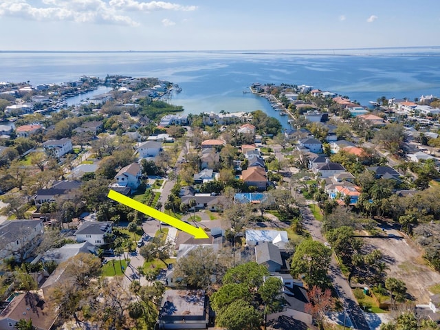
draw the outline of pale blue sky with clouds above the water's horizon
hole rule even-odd
[[[439,45],[440,1],[1,0],[0,50]]]

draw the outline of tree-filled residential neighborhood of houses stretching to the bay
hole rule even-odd
[[[252,84],[286,129],[181,114],[180,91],[0,86],[0,329],[379,329],[409,306],[439,327],[439,99]]]

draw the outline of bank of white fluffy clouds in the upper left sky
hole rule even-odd
[[[76,23],[107,23],[140,25],[126,13],[155,10],[196,10],[195,5],[179,5],[164,1],[140,2],[135,0],[42,0],[35,5],[31,0],[0,1],[0,17],[19,17],[33,21],[73,21]],[[162,23],[164,23],[162,21]],[[173,21],[164,23],[174,25]]]

